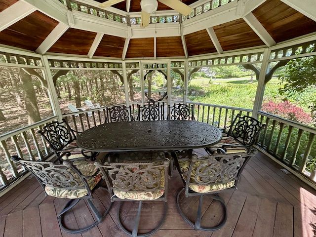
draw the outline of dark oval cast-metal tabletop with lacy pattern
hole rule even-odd
[[[221,138],[218,128],[198,121],[132,121],[90,128],[78,136],[77,145],[95,152],[189,150],[212,146]]]

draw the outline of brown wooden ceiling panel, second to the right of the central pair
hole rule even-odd
[[[213,29],[224,51],[265,45],[243,19],[224,23]]]

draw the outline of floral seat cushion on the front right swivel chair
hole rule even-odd
[[[194,175],[196,173],[196,170],[200,166],[200,164],[202,164],[203,162],[205,162],[205,161],[203,161],[202,159],[200,161],[195,162],[193,169],[192,169],[192,172],[191,172],[190,179],[194,180]],[[191,160],[189,160],[189,159],[179,160],[179,165],[180,165],[180,169],[182,172],[182,177],[185,180],[187,179],[187,176],[188,176],[188,170],[190,167],[190,163],[191,163]],[[190,181],[192,181],[192,180],[190,180]],[[194,192],[204,194],[204,193],[209,193],[209,192],[215,191],[215,190],[228,189],[228,188],[233,187],[234,185],[235,185],[235,180],[230,181],[230,182],[226,182],[226,183],[224,182],[224,183],[210,184],[210,185],[198,185],[198,184],[190,182],[189,188]]]

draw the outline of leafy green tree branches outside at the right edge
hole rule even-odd
[[[288,97],[297,93],[312,91],[309,106],[314,120],[316,119],[316,57],[291,60],[279,71],[278,79],[283,85],[279,92]]]

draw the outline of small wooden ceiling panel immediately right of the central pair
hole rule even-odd
[[[216,52],[216,48],[206,30],[186,35],[185,40],[189,56]]]

